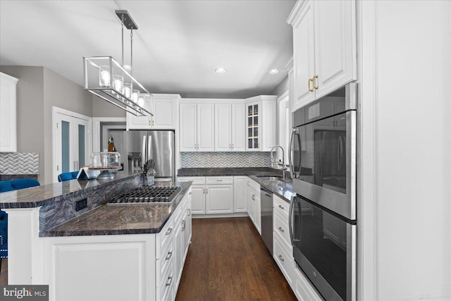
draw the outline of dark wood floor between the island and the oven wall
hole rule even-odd
[[[247,217],[193,219],[177,301],[297,300]]]

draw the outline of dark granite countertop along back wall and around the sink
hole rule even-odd
[[[290,202],[293,195],[292,181],[287,178],[285,183],[277,181],[261,180],[258,176],[281,176],[280,169],[271,167],[235,167],[235,168],[180,168],[178,170],[179,177],[187,176],[249,176],[264,188],[276,193],[279,197]]]

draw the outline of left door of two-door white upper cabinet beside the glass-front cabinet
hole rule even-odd
[[[216,152],[230,152],[232,150],[232,124],[232,106],[230,104],[215,104],[214,149]]]

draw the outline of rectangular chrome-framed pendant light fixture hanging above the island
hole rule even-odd
[[[111,56],[83,58],[85,90],[135,116],[154,116],[152,94],[132,76],[133,30],[138,27],[128,11],[116,11],[122,25],[122,61]],[[124,25],[130,30],[130,68],[124,67]]]

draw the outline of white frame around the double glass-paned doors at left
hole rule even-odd
[[[73,111],[59,108],[58,106],[52,106],[51,107],[51,141],[52,141],[52,152],[53,152],[53,155],[52,155],[52,161],[53,161],[52,183],[55,183],[57,181],[58,174],[61,173],[61,171],[56,170],[56,166],[58,165],[58,162],[56,161],[56,154],[58,152],[58,145],[56,143],[58,127],[57,127],[56,119],[57,119],[58,113],[87,121],[87,137],[85,138],[87,140],[87,150],[88,150],[87,157],[89,158],[90,154],[92,153],[92,133],[91,133],[92,118],[89,116],[82,115],[80,113],[75,113]]]

